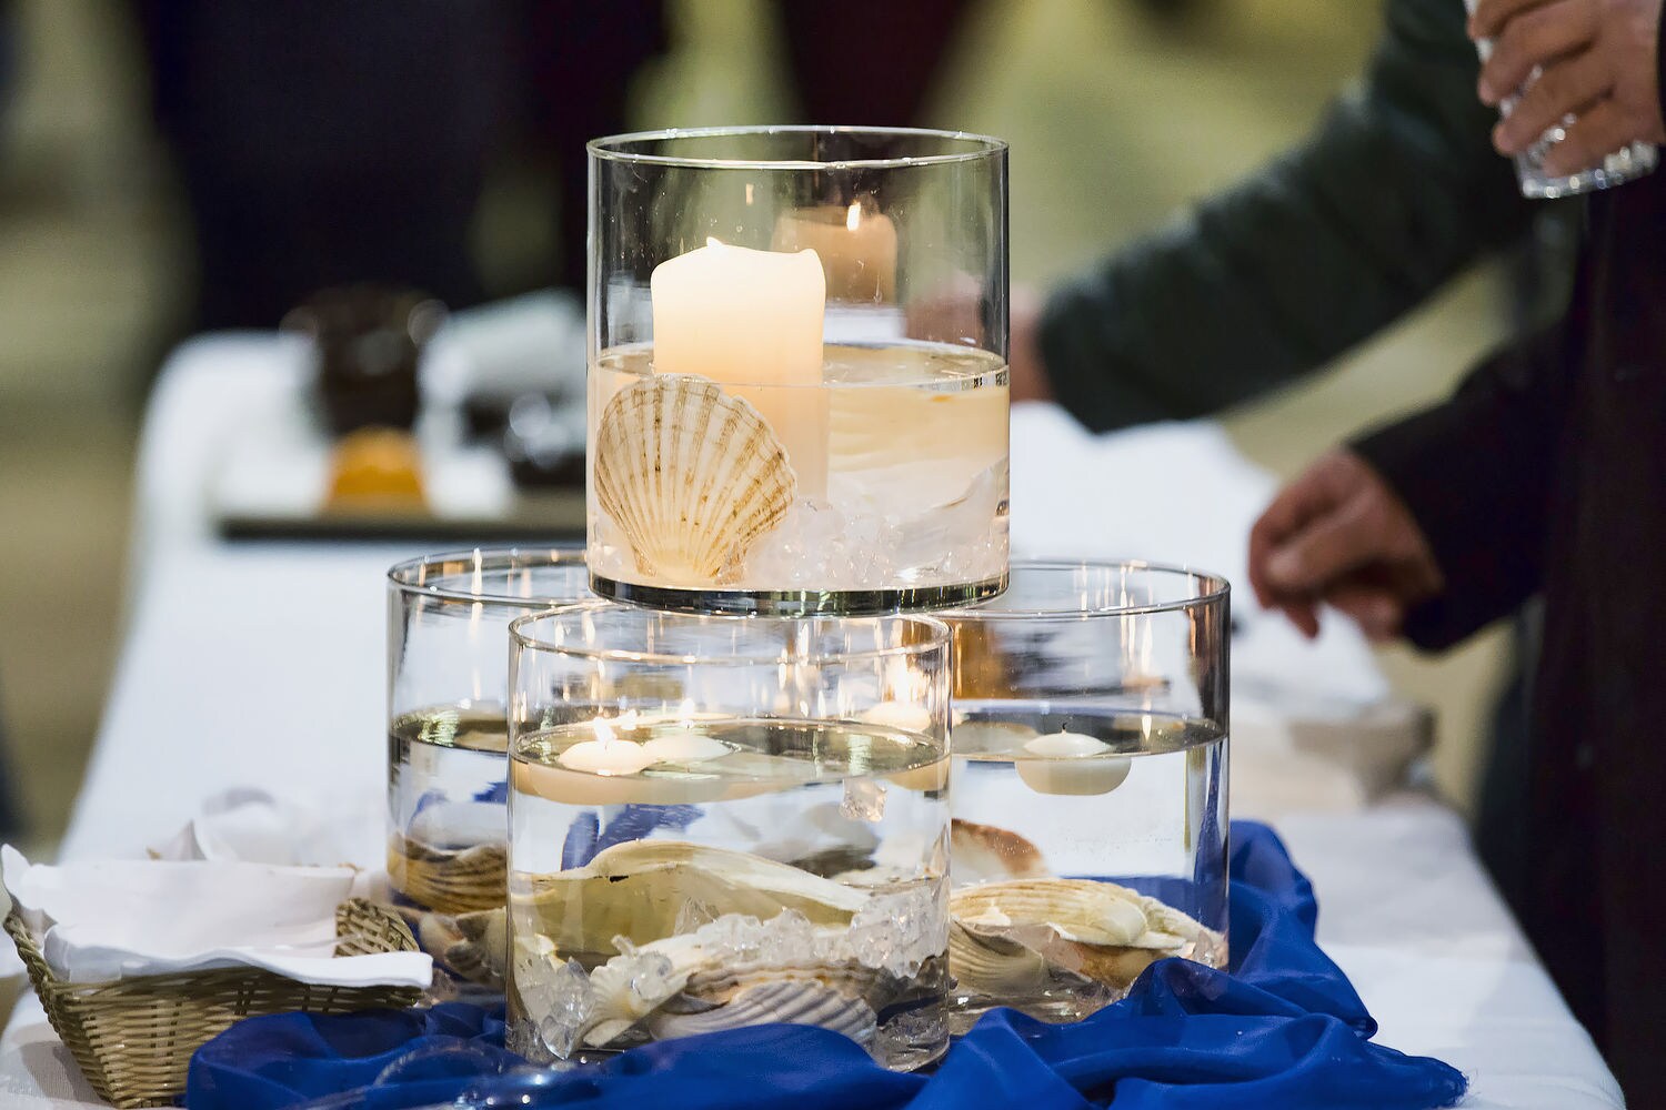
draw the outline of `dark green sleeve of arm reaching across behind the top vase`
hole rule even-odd
[[[1043,361],[1081,423],[1200,416],[1284,384],[1526,230],[1464,7],[1386,15],[1363,85],[1303,146],[1050,298]]]

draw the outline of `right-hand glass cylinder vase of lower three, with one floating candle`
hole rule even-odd
[[[951,1027],[1055,1022],[1226,964],[1228,584],[1015,562],[955,641]]]

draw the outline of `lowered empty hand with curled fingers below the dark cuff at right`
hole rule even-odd
[[[1386,641],[1443,579],[1406,504],[1358,454],[1338,449],[1289,483],[1250,529],[1250,586],[1263,609],[1281,609],[1309,639],[1324,602]]]

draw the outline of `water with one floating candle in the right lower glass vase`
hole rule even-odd
[[[956,704],[951,1027],[1071,1022],[1150,964],[1226,964],[1226,737],[1178,716]]]

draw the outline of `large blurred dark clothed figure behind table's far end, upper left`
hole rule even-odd
[[[468,231],[520,75],[520,5],[135,0],[197,225],[197,330],[313,290],[481,298]]]

